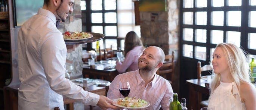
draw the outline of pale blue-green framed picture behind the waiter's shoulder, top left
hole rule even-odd
[[[43,7],[44,0],[13,0],[15,11],[15,26],[21,26],[25,21],[37,14]]]

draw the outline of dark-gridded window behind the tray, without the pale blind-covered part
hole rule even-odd
[[[90,4],[90,5],[86,5]],[[117,2],[116,0],[81,0],[82,28],[86,32],[105,34],[101,48],[117,49]],[[88,43],[86,49],[96,48],[96,42]]]

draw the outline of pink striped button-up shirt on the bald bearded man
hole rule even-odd
[[[173,101],[171,84],[163,77],[155,74],[154,79],[145,87],[145,81],[139,75],[139,69],[117,75],[110,84],[107,97],[110,99],[120,98],[119,82],[127,81],[130,84],[128,97],[136,97],[149,102],[150,106],[142,110],[159,110],[160,107],[163,110],[169,110],[169,104]]]

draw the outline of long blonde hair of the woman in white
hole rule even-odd
[[[220,47],[226,57],[226,62],[228,63],[229,71],[231,73],[231,78],[240,87],[240,83],[249,82],[250,83],[250,68],[249,63],[246,62],[246,52],[234,44],[230,43],[220,43],[216,46]],[[212,63],[211,63],[212,65]],[[212,74],[213,71],[212,71]],[[221,76],[220,74],[215,74],[211,84],[211,94],[220,85]]]

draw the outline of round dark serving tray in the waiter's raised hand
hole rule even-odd
[[[65,43],[66,43],[67,45],[72,45],[72,44],[86,44],[86,43],[92,43],[92,42],[99,41],[99,40],[101,40],[102,38],[105,37],[104,34],[99,34],[99,33],[95,33],[95,32],[86,32],[86,33],[92,34],[93,37],[92,37],[92,38],[85,39],[85,40],[79,40],[79,41],[69,41],[69,40],[64,40],[64,41],[65,41]]]

